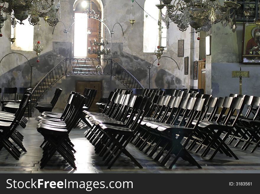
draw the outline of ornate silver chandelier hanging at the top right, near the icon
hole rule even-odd
[[[224,1],[220,5],[218,0],[161,0],[163,4],[156,5],[159,9],[167,8],[162,17],[167,28],[170,22],[177,24],[179,30],[185,31],[189,25],[196,32],[208,31],[213,24],[229,24],[230,30],[235,32],[236,10],[240,7],[234,0]],[[173,4],[171,4],[173,2]]]

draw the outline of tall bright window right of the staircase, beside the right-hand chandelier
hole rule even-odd
[[[144,2],[144,10],[150,14],[144,12],[144,42],[143,42],[143,52],[153,53],[157,50],[159,44],[158,37],[158,19],[159,19],[159,9],[155,6],[160,4],[160,0],[146,0]],[[162,9],[163,14],[166,12],[166,8]],[[152,18],[152,17],[153,18]],[[167,38],[167,28],[162,22],[162,46],[166,47]]]

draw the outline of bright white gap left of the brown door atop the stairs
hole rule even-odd
[[[75,13],[74,57],[87,57],[87,14]]]

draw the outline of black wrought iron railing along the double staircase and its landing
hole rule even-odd
[[[126,88],[144,88],[142,84],[123,66],[111,59],[96,58],[66,58],[35,86],[31,94],[31,109],[36,102],[52,87],[59,79],[65,75],[111,75]]]

